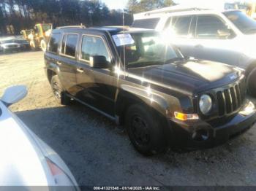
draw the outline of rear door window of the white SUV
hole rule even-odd
[[[173,17],[172,28],[178,36],[188,36],[189,28],[191,26],[192,17]]]

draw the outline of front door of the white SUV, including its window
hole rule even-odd
[[[191,42],[196,58],[238,64],[240,52],[236,34],[217,15],[197,16],[195,39],[191,39]]]

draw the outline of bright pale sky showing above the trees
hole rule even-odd
[[[124,9],[127,6],[128,0],[102,0],[110,9]],[[173,0],[177,4],[214,4],[215,6],[221,6],[225,0]],[[226,1],[233,1],[233,0],[226,0]],[[256,0],[241,0],[241,1],[256,1]]]

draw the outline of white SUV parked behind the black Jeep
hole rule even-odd
[[[135,14],[132,26],[165,31],[184,55],[245,69],[256,96],[256,21],[244,12],[174,6]]]

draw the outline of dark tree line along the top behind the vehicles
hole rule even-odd
[[[129,0],[124,12],[124,24],[132,23],[132,14],[167,7],[171,0]],[[123,10],[110,10],[99,0],[1,0],[0,34],[8,27],[19,34],[33,28],[36,23],[53,23],[56,26],[80,25],[113,26],[123,24]],[[10,28],[9,28],[10,29]]]

